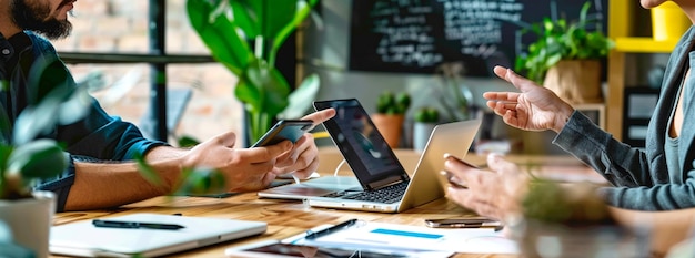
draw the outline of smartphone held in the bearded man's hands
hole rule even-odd
[[[269,146],[282,141],[290,140],[296,142],[302,135],[313,128],[314,122],[311,120],[281,120],[273,125],[261,138],[251,147]]]

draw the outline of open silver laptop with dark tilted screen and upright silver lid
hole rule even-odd
[[[480,120],[437,125],[411,178],[357,100],[318,101],[314,107],[336,110],[323,125],[362,186],[308,198],[314,207],[400,213],[441,198],[444,154],[463,158],[481,125]]]

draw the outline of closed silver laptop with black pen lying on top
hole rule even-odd
[[[49,250],[54,255],[82,257],[153,257],[194,249],[222,241],[263,234],[263,221],[189,217],[162,214],[132,214],[103,218],[179,225],[180,229],[97,227],[84,220],[51,228]]]

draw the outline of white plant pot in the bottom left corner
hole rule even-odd
[[[49,234],[56,214],[56,195],[52,192],[34,192],[34,198],[0,200],[0,220],[12,230],[14,244],[48,257]]]

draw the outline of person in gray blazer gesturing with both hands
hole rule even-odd
[[[641,4],[649,9],[666,1],[642,0]],[[695,19],[695,0],[673,2]],[[556,132],[553,144],[611,183],[597,189],[608,205],[633,210],[695,208],[695,80],[691,78],[694,42],[695,29],[691,27],[671,54],[645,148],[616,141],[552,91],[507,68],[495,66],[494,73],[518,92],[486,92],[483,96],[487,106],[513,127]],[[449,197],[481,215],[503,218],[518,205],[502,199],[526,188],[527,180],[515,166],[500,164],[506,164],[503,157],[490,157],[490,169],[497,173],[488,173],[447,159],[446,169],[467,184],[467,188],[450,187]]]

